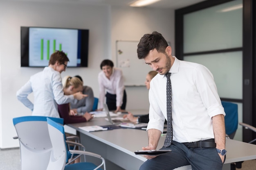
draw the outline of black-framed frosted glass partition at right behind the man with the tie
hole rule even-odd
[[[238,122],[243,122],[243,0],[205,4],[176,10],[175,55],[206,66],[221,100],[237,103]],[[243,141],[242,126],[234,139]]]

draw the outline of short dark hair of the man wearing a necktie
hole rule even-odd
[[[167,46],[168,43],[162,34],[157,33],[156,31],[153,31],[152,34],[144,34],[144,36],[141,37],[137,48],[138,59],[144,59],[149,51],[153,49],[156,49],[157,52],[165,53]]]

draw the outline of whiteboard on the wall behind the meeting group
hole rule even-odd
[[[116,41],[117,67],[123,71],[125,86],[145,85],[146,75],[153,70],[144,59],[138,59],[139,41]]]

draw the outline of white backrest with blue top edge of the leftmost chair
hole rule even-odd
[[[21,170],[45,170],[49,162],[52,144],[45,116],[13,118],[20,142]],[[62,123],[62,118],[53,118]]]

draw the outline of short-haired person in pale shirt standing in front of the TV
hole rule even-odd
[[[81,92],[64,95],[61,72],[65,71],[68,61],[64,52],[54,52],[49,59],[49,66],[31,76],[29,81],[18,90],[16,94],[18,100],[31,109],[33,116],[59,118],[57,104],[71,102],[74,98],[81,100],[87,96]],[[32,92],[34,92],[34,104],[27,98]]]

